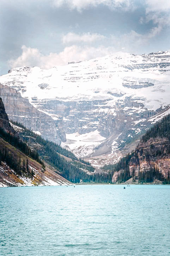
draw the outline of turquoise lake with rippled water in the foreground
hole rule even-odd
[[[0,255],[170,255],[170,186],[0,188]]]

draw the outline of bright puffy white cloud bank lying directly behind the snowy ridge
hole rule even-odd
[[[22,46],[22,54],[17,59],[8,61],[11,68],[20,66],[38,66],[44,69],[49,69],[54,66],[67,65],[71,61],[84,61],[96,57],[102,57],[111,54],[115,51],[113,47],[99,46],[81,47],[72,45],[66,47],[59,54],[50,53],[43,55],[38,49]]]

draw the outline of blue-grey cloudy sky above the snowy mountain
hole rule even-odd
[[[170,0],[0,0],[0,75],[170,50]]]

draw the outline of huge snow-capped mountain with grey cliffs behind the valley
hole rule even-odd
[[[48,70],[13,68],[0,82],[54,120],[62,116],[62,146],[97,166],[117,160],[158,113],[169,112],[170,52],[117,52]]]

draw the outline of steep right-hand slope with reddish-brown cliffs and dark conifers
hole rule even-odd
[[[113,183],[170,184],[170,114],[147,130],[131,154],[104,169],[114,171]]]

